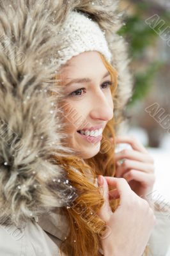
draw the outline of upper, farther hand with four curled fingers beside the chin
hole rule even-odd
[[[155,183],[154,161],[149,152],[135,138],[118,136],[116,143],[128,143],[132,149],[123,149],[115,154],[116,175],[127,180],[130,188],[147,200],[148,193]],[[122,164],[120,160],[125,159]]]

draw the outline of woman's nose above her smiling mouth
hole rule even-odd
[[[106,95],[100,90],[91,99],[90,117],[93,119],[109,121],[113,117],[114,104],[111,94]]]

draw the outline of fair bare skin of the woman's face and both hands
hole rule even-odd
[[[107,69],[96,51],[73,56],[59,71],[65,93],[63,114],[65,131],[69,135],[68,147],[73,148],[82,159],[98,154],[100,142],[90,143],[82,138],[77,130],[98,124],[105,127],[113,117],[114,104],[110,90],[113,85],[107,84],[111,81],[110,75],[103,78],[106,73]],[[66,86],[72,79],[83,77],[88,77],[91,81]],[[75,92],[76,90],[79,92]],[[68,115],[70,110],[73,111]],[[135,138],[118,136],[116,143],[127,143],[132,149],[121,150],[115,154],[116,177],[103,177],[100,182],[105,204],[99,215],[112,231],[110,236],[101,239],[102,248],[105,256],[141,256],[155,225],[155,216],[146,202],[155,182],[153,159]],[[125,161],[120,163],[122,159]],[[117,190],[114,190],[114,193],[109,192],[108,184],[116,186]],[[109,200],[112,198],[121,200],[121,205],[115,212],[109,207]],[[140,235],[140,243],[139,236],[135,236],[136,232]],[[127,237],[135,237],[135,243],[133,239],[127,241]]]

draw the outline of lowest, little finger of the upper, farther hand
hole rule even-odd
[[[139,172],[138,170],[130,170],[129,172],[125,173],[123,177],[129,182],[130,180],[137,180],[145,185],[150,184],[153,185],[155,182],[155,175]]]

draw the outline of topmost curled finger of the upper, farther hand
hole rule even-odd
[[[146,148],[134,137],[132,136],[117,136],[115,138],[116,143],[128,143],[130,146],[139,152],[148,153]]]

